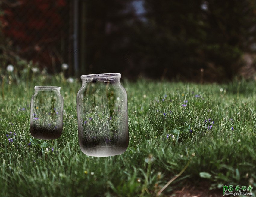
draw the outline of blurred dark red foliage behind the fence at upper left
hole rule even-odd
[[[19,0],[19,5],[3,4],[0,17],[2,31],[18,46],[18,54],[49,66],[54,59],[51,51],[60,40],[64,21],[61,9],[66,0]],[[42,54],[39,54],[42,53]],[[55,58],[56,59],[56,58]]]

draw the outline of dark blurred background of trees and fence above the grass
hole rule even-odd
[[[0,74],[256,76],[255,0],[0,0]],[[9,67],[10,68],[10,67]]]

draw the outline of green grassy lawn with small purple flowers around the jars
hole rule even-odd
[[[156,196],[185,168],[160,196],[202,183],[220,196],[222,185],[251,185],[255,196],[255,82],[124,81],[129,147],[118,156],[89,157],[78,144],[81,81],[68,83],[60,75],[31,80],[1,89],[0,196]],[[30,135],[35,85],[61,86],[64,127],[57,140]]]

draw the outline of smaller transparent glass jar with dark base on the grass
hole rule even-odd
[[[60,87],[35,86],[31,98],[30,133],[38,139],[57,139],[63,127],[63,97]]]

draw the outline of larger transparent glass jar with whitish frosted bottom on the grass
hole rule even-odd
[[[86,155],[122,154],[129,142],[127,93],[121,74],[82,75],[77,93],[78,138]]]

